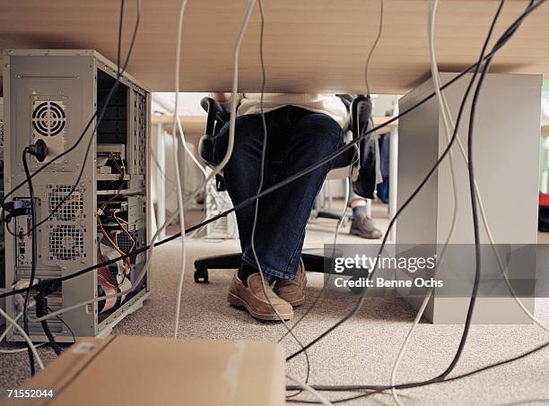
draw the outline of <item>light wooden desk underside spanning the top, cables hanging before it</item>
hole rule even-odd
[[[128,72],[153,91],[172,91],[179,0],[142,0]],[[182,91],[228,91],[232,48],[246,0],[190,0],[184,19]],[[427,0],[385,0],[385,24],[370,62],[374,93],[403,94],[429,75]],[[499,2],[444,0],[437,19],[442,71],[475,61]],[[495,35],[527,0],[507,2]],[[94,48],[116,60],[119,2],[0,0],[0,48]],[[379,0],[264,0],[267,91],[365,92],[364,61],[379,24]],[[135,19],[126,1],[124,52]],[[494,59],[492,72],[549,73],[549,4],[532,13]],[[256,4],[240,54],[240,90],[257,91]]]

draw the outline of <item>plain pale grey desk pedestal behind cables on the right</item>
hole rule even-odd
[[[441,75],[442,82],[455,77],[455,73]],[[457,117],[471,75],[468,73],[444,91],[453,117]],[[425,92],[431,91],[426,85],[420,85],[400,99],[401,109],[423,99]],[[541,85],[542,77],[537,75],[489,73],[476,107],[475,178],[492,236],[500,245],[498,250],[510,280],[515,281],[534,281],[536,278],[536,251],[531,248],[535,248],[537,241]],[[466,110],[461,117],[462,127],[457,134],[465,148],[469,114]],[[402,207],[447,146],[437,100],[433,98],[402,117],[399,132],[398,206]],[[457,225],[446,259],[440,262],[437,270],[437,278],[441,278],[444,288],[449,290],[435,289],[424,314],[435,324],[464,322],[475,279],[468,171],[457,147],[453,151],[458,190]],[[406,245],[422,245],[422,255],[440,254],[454,212],[451,185],[449,161],[446,160],[399,216],[397,248],[409,253]],[[473,323],[531,324],[514,298],[506,296],[509,290],[501,280],[482,222],[479,227],[483,244],[483,282],[481,294],[475,302]],[[538,274],[545,272],[541,270],[537,269]],[[399,277],[411,281],[418,276],[399,272]],[[423,299],[403,290],[401,293],[414,307]],[[525,293],[528,296],[533,292]],[[522,298],[522,302],[530,312],[534,312],[533,297]]]

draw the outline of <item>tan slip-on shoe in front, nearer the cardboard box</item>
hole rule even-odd
[[[284,320],[290,320],[293,317],[292,305],[276,296],[265,275],[263,275],[263,278],[265,281],[266,296],[263,291],[263,283],[261,282],[259,272],[248,276],[248,288],[240,281],[238,271],[235,272],[227,297],[229,303],[232,306],[245,307],[252,317],[260,320],[280,320],[273,309],[275,307]],[[267,298],[271,300],[273,307]]]

